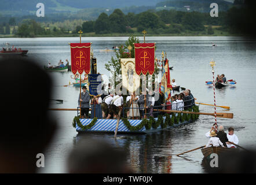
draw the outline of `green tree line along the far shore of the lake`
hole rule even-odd
[[[240,34],[241,30],[237,28],[244,28],[243,24],[249,21],[244,21],[244,12],[246,13],[246,8],[233,7],[227,12],[219,12],[218,17],[211,17],[209,13],[177,10],[148,10],[138,14],[125,14],[120,9],[115,9],[109,16],[101,13],[94,21],[73,20],[65,21],[65,24],[38,23],[32,19],[25,19],[18,25],[15,18],[10,18],[9,23],[0,24],[0,34],[20,37],[60,36],[77,34],[80,29],[83,33],[94,35],[136,34],[144,29],[151,35],[213,35],[214,31],[221,34]]]

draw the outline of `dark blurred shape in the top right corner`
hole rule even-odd
[[[239,3],[236,1],[234,5],[226,15],[226,25],[229,26],[229,32],[255,37],[256,1],[244,0],[239,1]]]

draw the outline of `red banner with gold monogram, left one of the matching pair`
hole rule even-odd
[[[71,71],[81,75],[83,71],[88,75],[90,72],[91,43],[70,43]]]

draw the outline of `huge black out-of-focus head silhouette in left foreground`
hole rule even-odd
[[[52,80],[24,57],[1,58],[0,173],[36,172],[56,130],[47,109]]]

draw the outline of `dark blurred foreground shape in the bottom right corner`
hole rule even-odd
[[[211,168],[210,161],[203,159],[206,173],[256,173],[256,151],[241,149],[238,153],[225,153],[218,156],[218,168]]]

